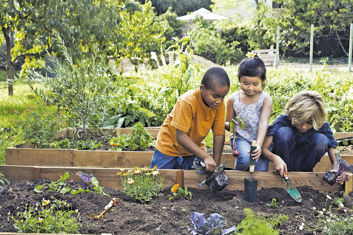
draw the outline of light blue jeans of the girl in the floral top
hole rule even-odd
[[[249,161],[250,153],[247,153],[250,150],[251,144],[243,139],[235,139],[236,149],[239,151],[240,155],[236,158],[235,161],[235,170],[237,171],[248,171],[249,170]],[[231,139],[232,150],[234,151],[233,138]],[[268,171],[269,161],[261,158],[257,159],[255,164],[254,171]]]

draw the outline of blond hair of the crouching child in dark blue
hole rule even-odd
[[[324,99],[315,92],[304,91],[294,95],[288,101],[284,114],[292,120],[293,124],[313,122],[314,129],[319,129],[326,121],[326,108]]]

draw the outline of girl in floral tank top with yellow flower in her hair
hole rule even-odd
[[[250,146],[252,140],[256,140],[256,149],[251,154],[251,157],[256,159],[254,170],[267,171],[269,161],[261,158],[261,147],[271,115],[272,98],[262,91],[266,81],[265,64],[253,53],[248,52],[246,56],[238,69],[241,90],[231,95],[227,102],[225,128],[233,133],[230,137],[232,149],[235,149],[233,144],[235,135],[235,145],[239,151],[235,170],[249,170]],[[230,130],[229,123],[235,117],[241,117],[244,121],[243,129],[240,122],[236,121],[233,130]]]

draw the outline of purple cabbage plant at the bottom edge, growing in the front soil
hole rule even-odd
[[[204,213],[193,212],[190,217],[191,222],[194,225],[193,229],[188,227],[179,227],[179,232],[187,230],[192,235],[226,235],[235,231],[236,226],[230,229],[223,229],[223,216],[214,213],[205,219]]]

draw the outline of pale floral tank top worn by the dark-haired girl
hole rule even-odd
[[[235,93],[233,104],[235,115],[241,117],[245,122],[243,130],[240,128],[240,122],[236,125],[236,138],[244,139],[249,143],[251,143],[253,139],[257,139],[258,122],[261,116],[263,99],[266,95],[267,93],[262,91],[260,97],[255,103],[251,105],[243,105],[239,102],[239,92]],[[233,136],[231,137],[233,139]]]

